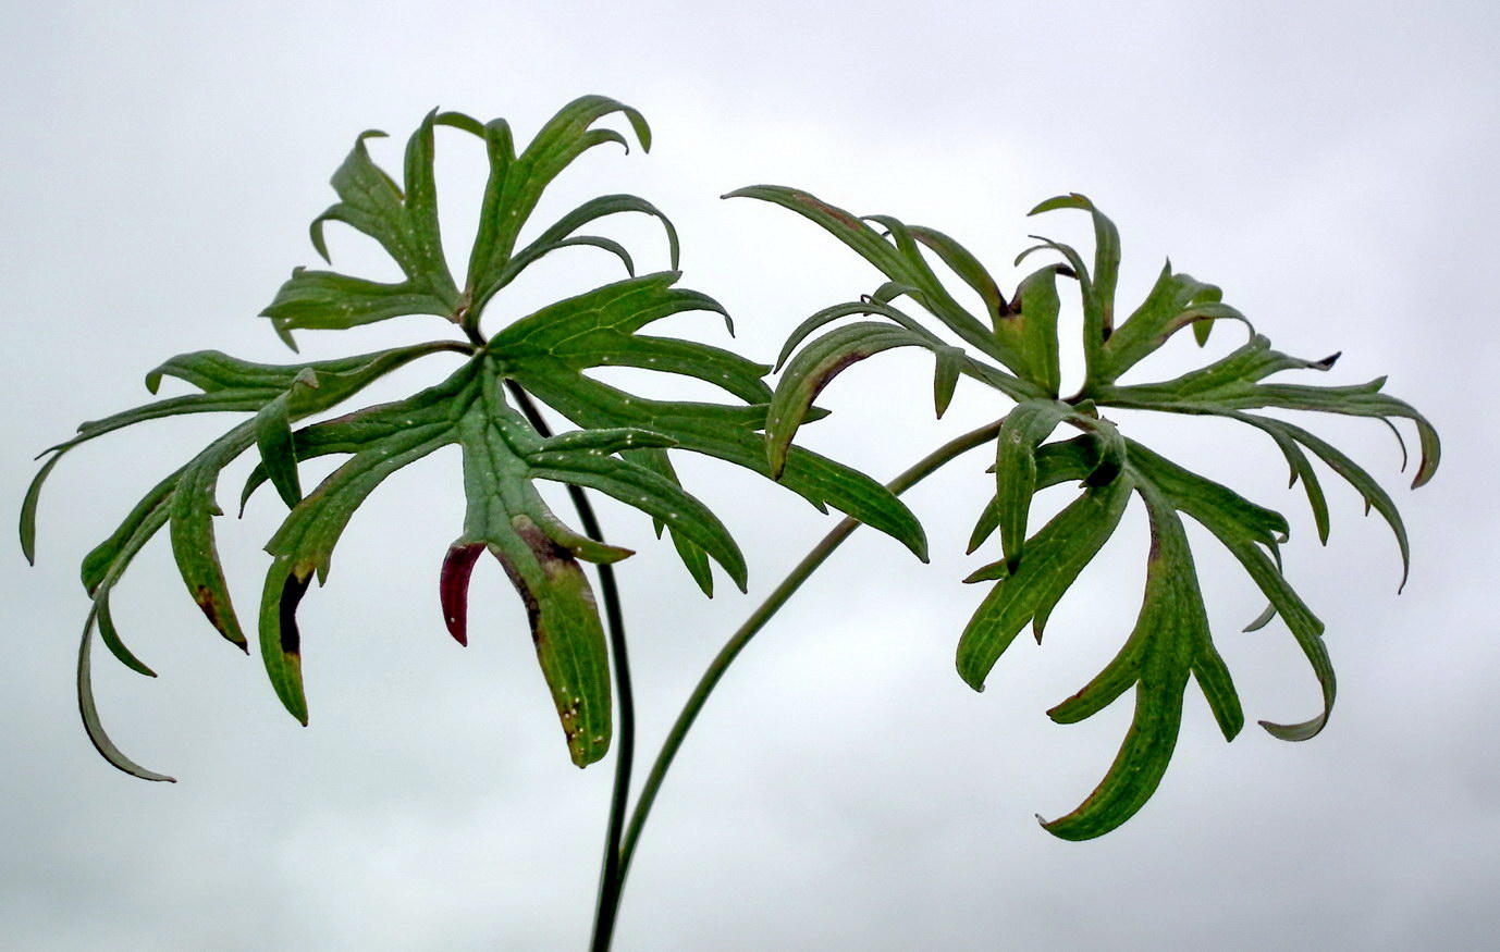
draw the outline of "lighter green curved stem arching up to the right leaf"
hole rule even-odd
[[[990,442],[999,432],[1000,421],[994,421],[951,439],[922,457],[910,469],[886,483],[886,489],[897,496],[902,495],[962,453]],[[786,576],[786,579],[782,580],[778,586],[776,586],[776,591],[766,597],[760,607],[752,612],[750,618],[740,625],[740,630],[735,631],[728,642],[724,642],[718,655],[714,657],[708,670],[705,670],[704,676],[698,681],[698,687],[693,688],[693,694],[682,706],[682,712],[676,715],[676,723],[672,724],[672,730],[668,732],[666,741],[662,744],[662,751],[657,754],[656,763],[651,765],[651,774],[646,775],[645,786],[640,789],[636,808],[630,814],[630,826],[626,831],[626,838],[620,849],[621,889],[624,888],[626,874],[630,871],[630,859],[634,856],[636,843],[640,840],[640,829],[645,826],[646,817],[651,816],[651,805],[656,802],[657,793],[662,790],[662,781],[666,778],[666,772],[672,766],[672,760],[676,757],[678,748],[682,747],[687,732],[693,727],[698,712],[702,711],[704,705],[708,702],[708,696],[714,693],[714,687],[718,685],[720,678],[724,676],[729,666],[734,664],[740,652],[750,643],[750,639],[753,639],[756,633],[771,619],[771,616],[776,615],[783,604],[786,604],[792,594],[801,588],[802,582],[813,574],[813,570],[822,565],[824,561],[832,555],[834,549],[849,538],[849,534],[860,528],[860,525],[861,523],[855,519],[844,519],[834,526],[834,531],[825,535],[820,543],[813,546],[813,550],[796,564],[796,567]],[[614,916],[614,913],[610,913],[610,916]]]

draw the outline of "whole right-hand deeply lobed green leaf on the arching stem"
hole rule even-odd
[[[870,298],[825,309],[794,331],[782,355],[784,372],[771,403],[772,424],[766,427],[772,459],[801,421],[796,414],[807,412],[818,390],[832,375],[878,349],[918,345],[939,351],[948,345],[936,331],[946,330],[957,334],[964,346],[1005,367],[990,367],[968,355],[960,366],[964,376],[1016,400],[1016,406],[994,427],[998,441],[992,472],[996,492],[980,513],[969,538],[969,552],[974,552],[998,531],[1002,556],[966,579],[970,583],[993,583],[958,640],[958,673],[970,687],[984,687],[999,657],[1028,622],[1041,639],[1052,609],[1114,532],[1130,498],[1136,495],[1144,502],[1152,550],[1144,603],[1134,630],[1114,661],[1050,712],[1059,723],[1072,723],[1134,688],[1136,717],[1100,787],[1070,814],[1044,823],[1048,831],[1070,840],[1098,837],[1146,804],[1176,745],[1182,697],[1190,681],[1202,688],[1226,738],[1233,738],[1244,724],[1233,679],[1208,631],[1203,597],[1179,514],[1208,528],[1270,603],[1246,630],[1281,618],[1317,676],[1323,709],[1316,717],[1296,724],[1262,724],[1287,741],[1308,739],[1323,729],[1335,697],[1334,669],[1323,645],[1323,624],[1281,571],[1280,546],[1288,534],[1286,519],[1126,439],[1102,412],[1120,406],[1216,415],[1264,432],[1286,457],[1292,483],[1302,481],[1318,538],[1326,541],[1328,502],[1310,456],[1320,459],[1360,493],[1366,511],[1374,508],[1390,525],[1401,552],[1404,583],[1408,564],[1406,529],[1395,504],[1376,480],[1306,429],[1246,412],[1294,409],[1362,415],[1392,424],[1392,429],[1394,418],[1404,417],[1416,424],[1422,445],[1422,462],[1413,480],[1413,486],[1422,486],[1438,463],[1437,432],[1410,405],[1383,394],[1383,379],[1356,387],[1266,382],[1266,378],[1286,370],[1326,372],[1338,355],[1323,360],[1288,357],[1272,349],[1270,342],[1251,328],[1248,342],[1197,370],[1155,384],[1118,382],[1185,327],[1194,328],[1202,345],[1215,321],[1228,319],[1246,327],[1250,322],[1222,301],[1220,288],[1173,271],[1170,262],[1146,300],[1118,322],[1119,232],[1083,195],[1047,199],[1032,214],[1058,208],[1088,211],[1095,235],[1092,264],[1068,244],[1040,238],[1040,244],[1017,256],[1017,264],[1036,252],[1058,253],[1064,264],[1022,279],[1010,303],[990,273],[940,232],[904,228],[888,216],[864,219],[885,225],[886,235],[880,235],[862,219],[795,189],[754,186],[732,195],[762,198],[802,214],[890,279]],[[975,334],[974,321],[956,313],[957,304],[938,285],[914,240],[934,250],[986,303],[993,325],[987,339]],[[1056,387],[1059,274],[1077,280],[1084,316],[1084,382],[1077,394],[1065,400],[1058,399]],[[928,330],[906,313],[896,312],[890,301],[903,295],[933,313],[942,327]],[[812,331],[830,321],[852,315],[884,318],[896,327],[862,322],[808,339]],[[1047,442],[1059,424],[1083,435]],[[1032,496],[1065,481],[1077,481],[1082,493],[1028,537]]]

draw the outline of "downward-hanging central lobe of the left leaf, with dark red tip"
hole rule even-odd
[[[392,472],[448,444],[464,450],[468,516],[444,565],[441,594],[450,631],[466,642],[465,600],[472,555],[488,549],[526,606],[542,670],[552,690],[573,762],[592,763],[609,744],[609,658],[594,600],[576,559],[630,555],[568,529],[532,487],[554,480],[604,492],[670,522],[744,582],[744,559],[729,532],[676,483],[614,456],[669,441],[645,430],[592,430],[544,439],[504,399],[494,354],[399,403],[314,424],[296,438],[298,459],[352,453],[303,499],[272,538],[274,564],[261,609],[261,654],[278,694],[298,720],[302,636],[296,607],[312,576],[327,577],[333,549],[356,508]]]

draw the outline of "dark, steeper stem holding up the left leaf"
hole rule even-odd
[[[542,436],[550,436],[552,427],[542,417],[536,402],[514,381],[506,381],[506,388],[514,397],[516,406],[525,414],[531,427]],[[604,541],[594,507],[582,489],[567,484],[568,499],[578,510],[584,534],[594,541]],[[630,655],[626,651],[626,619],[620,609],[620,588],[615,585],[614,565],[596,565],[598,570],[598,594],[604,601],[604,618],[609,622],[609,651],[615,657],[615,696],[620,700],[620,720],[615,724],[615,789],[609,801],[609,828],[604,834],[604,859],[598,873],[598,897],[594,913],[594,937],[590,948],[596,952],[609,949],[615,931],[615,913],[620,909],[620,888],[624,882],[620,862],[620,840],[626,826],[626,804],[630,798],[630,771],[636,759],[636,699],[630,685]]]

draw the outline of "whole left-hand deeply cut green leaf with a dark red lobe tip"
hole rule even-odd
[[[746,586],[740,549],[724,525],[681,487],[668,453],[670,448],[710,453],[766,472],[758,430],[765,426],[771,400],[771,390],[762,381],[768,367],[705,343],[639,333],[646,324],[684,310],[723,313],[711,298],[674,288],[675,271],[633,277],[636,259],[630,250],[610,238],[580,234],[618,213],[657,217],[675,268],[676,232],[645,199],[603,195],[585,201],[530,241],[522,240],[543,190],[578,156],[602,142],[627,144],[620,132],[594,127],[610,114],[621,114],[640,145],[650,148],[644,118],[603,96],[584,96],[564,106],[519,153],[504,120],[480,123],[459,112],[429,112],[406,144],[399,184],[368,151],[368,141],[381,133],[360,135],[333,177],[338,202],[312,223],[312,243],[327,259],[326,223],[350,225],[384,247],[400,268],[402,280],[382,283],[336,271],[297,270],[264,310],[288,345],[294,330],[344,330],[418,313],[456,324],[466,342],[291,366],[250,364],[207,351],[186,354],[158,367],[147,382],[154,391],[162,376],[177,376],[201,393],[84,424],[75,439],[51,450],[22,501],[21,543],[27,558],[34,556],[42,483],[74,445],[141,420],[210,411],[248,414],[162,480],[84,561],[84,583],[94,604],[81,651],[80,706],[90,738],[111,763],[140,777],[165,780],[130,762],[110,742],[88,696],[94,630],[124,664],[152,673],[122,643],[108,597],[135,553],[164,526],[170,528],[178,568],[204,613],[226,639],[246,645],[214,553],[213,517],[219,514],[219,472],[252,447],[260,463],[242,492],[242,510],[267,481],[290,507],[267,546],[273,561],[261,595],[261,654],[274,690],[302,721],[308,718],[308,706],[298,603],[314,576],[327,577],[339,535],[380,483],[447,445],[462,451],[468,498],[464,531],[440,577],[447,627],[466,642],[468,579],[477,556],[490,552],[520,594],[570,757],[579,766],[606,753],[612,730],[610,657],[580,562],[608,564],[632,552],[568,528],[546,507],[536,481],[592,489],[640,510],[658,531],[672,534],[684,564],[705,591],[712,586],[711,562],[718,562],[736,586]],[[462,286],[452,277],[438,229],[434,148],[440,126],[480,138],[489,159],[478,232]],[[620,258],[632,277],[544,307],[486,340],[482,330],[486,303],[530,264],[567,247],[606,250]],[[405,400],[294,429],[298,420],[333,408],[398,366],[438,351],[460,352],[466,363],[446,381]],[[716,384],[732,399],[728,403],[646,400],[585,375],[600,366],[690,375]],[[514,406],[507,393],[514,396]],[[534,397],[550,402],[582,429],[550,435],[531,403]],[[304,495],[298,463],[327,454],[348,459]],[[794,450],[786,481],[814,505],[832,505],[867,519],[924,553],[926,538],[915,517],[868,477]]]

